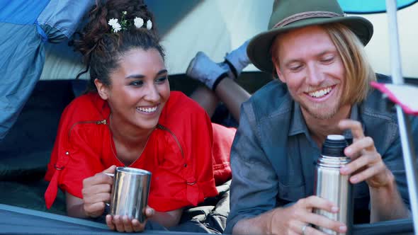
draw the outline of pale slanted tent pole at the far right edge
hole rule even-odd
[[[388,11],[389,36],[390,36],[390,57],[392,68],[392,83],[404,84],[400,62],[400,47],[397,31],[397,4],[396,0],[386,0]],[[414,222],[414,234],[418,235],[418,191],[417,191],[417,157],[414,153],[414,143],[411,134],[411,125],[400,105],[396,105],[397,120],[399,123],[400,140],[402,143],[409,202],[412,210],[412,221]]]

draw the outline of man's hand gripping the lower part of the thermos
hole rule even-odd
[[[272,212],[271,234],[323,234],[310,224],[339,233],[346,232],[346,225],[312,212],[313,209],[337,213],[339,208],[321,197],[310,196],[298,200],[290,207],[280,207]]]

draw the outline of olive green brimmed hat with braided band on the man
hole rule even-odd
[[[269,30],[249,42],[247,55],[261,71],[273,73],[270,47],[279,33],[309,25],[342,23],[366,45],[373,35],[373,25],[366,18],[345,16],[337,0],[275,0]]]

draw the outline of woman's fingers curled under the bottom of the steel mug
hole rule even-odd
[[[145,217],[150,218],[154,215],[154,209],[148,207],[145,209]],[[106,215],[106,224],[108,224],[109,229],[117,230],[121,232],[132,232],[132,231],[144,231],[145,224],[147,220],[140,223],[137,219],[130,219],[127,215],[115,215],[114,217],[111,214]]]

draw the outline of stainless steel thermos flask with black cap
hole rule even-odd
[[[354,204],[352,185],[349,181],[350,176],[343,176],[339,173],[340,168],[350,162],[349,157],[344,154],[344,149],[347,146],[346,139],[339,134],[328,135],[322,145],[321,155],[315,168],[314,192],[318,197],[334,202],[339,207],[339,212],[332,213],[318,209],[315,209],[314,212],[343,222],[347,226],[345,234],[350,234]],[[326,234],[343,234],[323,227],[316,227],[316,229]]]

